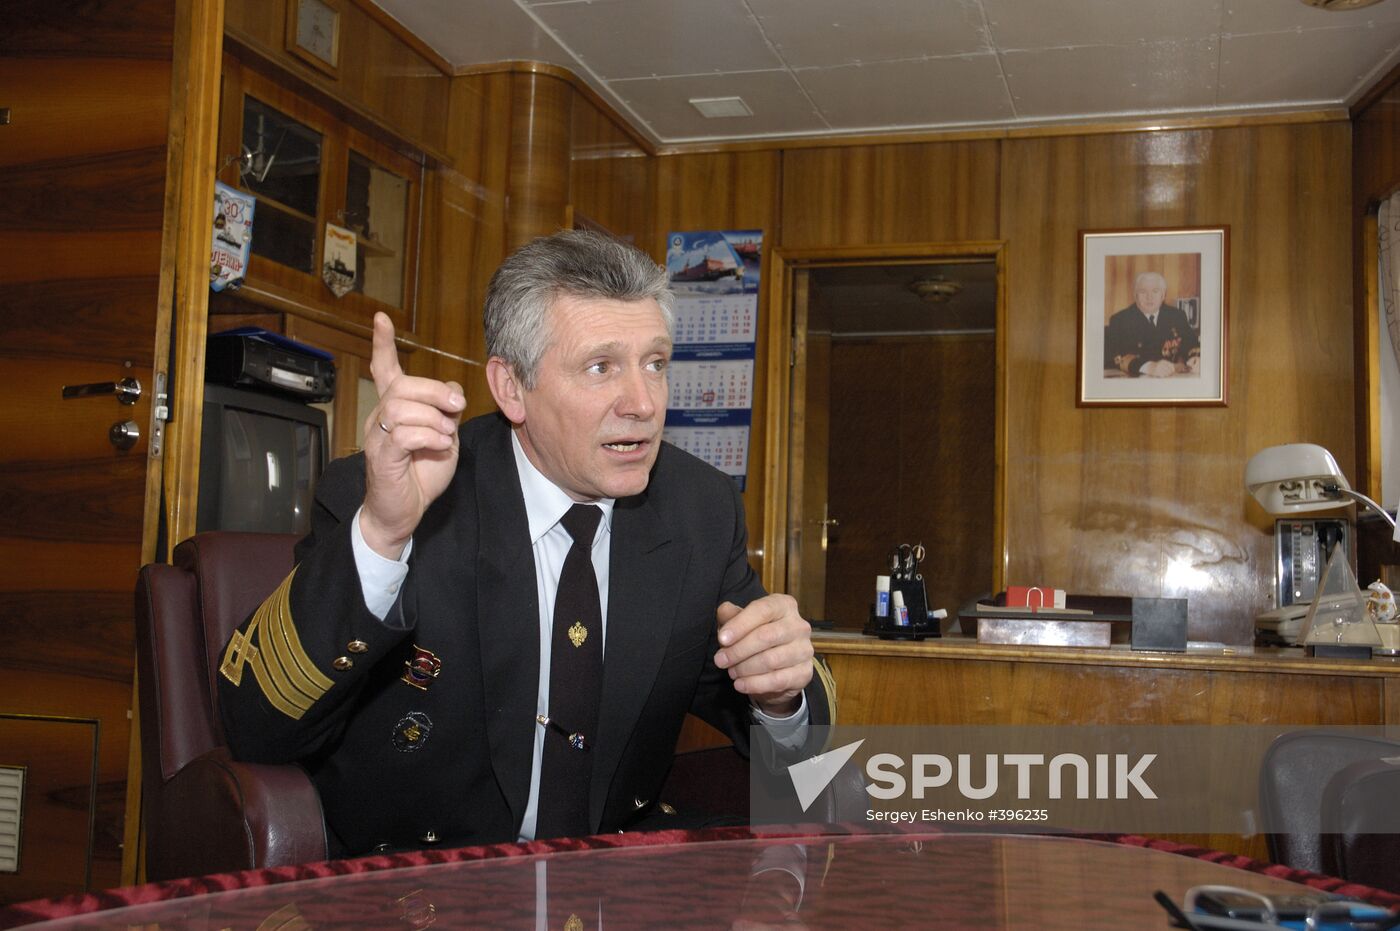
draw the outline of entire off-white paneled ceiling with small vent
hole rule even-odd
[[[459,67],[561,64],[659,144],[1344,108],[1400,0],[374,0]],[[703,119],[692,97],[753,116]]]

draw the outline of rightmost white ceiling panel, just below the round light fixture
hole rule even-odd
[[[1278,99],[1331,101],[1345,97],[1373,67],[1400,46],[1400,29],[1310,29],[1231,36],[1221,43],[1224,105]]]

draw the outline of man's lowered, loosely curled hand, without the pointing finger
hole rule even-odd
[[[734,687],[764,714],[787,717],[812,680],[812,626],[788,595],[766,595],[748,608],[724,602],[715,609],[720,652],[714,665],[729,671]]]

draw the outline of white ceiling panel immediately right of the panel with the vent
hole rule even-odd
[[[833,129],[956,126],[1011,119],[995,55],[798,71]]]

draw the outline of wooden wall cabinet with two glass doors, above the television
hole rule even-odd
[[[423,162],[225,59],[218,179],[258,197],[242,297],[413,330]],[[328,224],[354,234],[353,258],[328,253]]]

